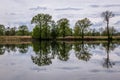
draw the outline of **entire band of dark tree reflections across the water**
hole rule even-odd
[[[1,44],[0,55],[3,55],[5,52],[19,52],[21,54],[25,54],[28,53],[29,46],[31,46],[35,52],[34,55],[31,55],[31,60],[38,66],[50,65],[54,59],[67,62],[70,59],[71,50],[73,50],[72,53],[75,55],[77,60],[89,61],[93,57],[91,50],[96,49],[98,46],[102,46],[106,52],[106,57],[103,60],[104,62],[102,63],[102,66],[104,68],[112,68],[112,66],[115,65],[115,62],[111,60],[110,53],[119,45],[110,41],[104,43],[86,43],[84,41],[41,41],[32,44]]]

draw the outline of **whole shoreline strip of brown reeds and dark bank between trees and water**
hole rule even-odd
[[[120,36],[113,36],[112,38],[108,39],[107,36],[85,36],[84,39],[81,36],[66,36],[66,37],[58,37],[56,39],[52,38],[44,38],[44,39],[35,39],[32,36],[0,36],[0,43],[8,43],[8,42],[34,42],[34,41],[119,41]]]

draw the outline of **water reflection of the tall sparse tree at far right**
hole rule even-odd
[[[108,40],[107,44],[103,44],[103,47],[105,48],[107,53],[106,58],[104,59],[103,67],[112,68],[112,66],[115,65],[115,63],[111,62],[109,53],[110,51],[113,51],[116,48],[116,46],[112,44],[111,41]]]

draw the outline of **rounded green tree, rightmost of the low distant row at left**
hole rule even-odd
[[[25,36],[29,34],[28,27],[26,25],[22,25],[18,27],[17,35]]]

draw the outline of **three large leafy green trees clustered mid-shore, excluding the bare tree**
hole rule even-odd
[[[87,18],[78,20],[75,24],[74,32],[70,28],[69,20],[67,18],[59,19],[57,22],[52,20],[49,14],[37,14],[31,20],[35,24],[32,36],[33,38],[56,38],[65,36],[84,36],[84,31],[92,25],[91,21]]]

